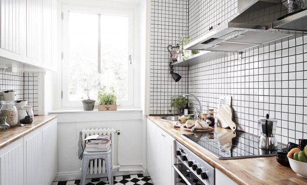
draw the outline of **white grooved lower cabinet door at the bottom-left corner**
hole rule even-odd
[[[22,139],[0,149],[0,185],[23,185]]]

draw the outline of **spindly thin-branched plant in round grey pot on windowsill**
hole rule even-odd
[[[96,80],[90,80],[87,78],[82,78],[80,80],[80,86],[84,93],[87,95],[88,99],[82,100],[84,111],[93,111],[95,106],[95,101],[90,98],[90,92],[93,88],[97,86]]]

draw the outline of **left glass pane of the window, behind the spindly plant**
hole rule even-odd
[[[98,57],[98,15],[69,12],[69,101],[88,99],[83,79],[95,81]],[[64,69],[65,70],[65,69]],[[91,99],[97,99],[97,88]]]

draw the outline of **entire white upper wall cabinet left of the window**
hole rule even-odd
[[[1,57],[56,70],[56,0],[1,0],[0,16]]]

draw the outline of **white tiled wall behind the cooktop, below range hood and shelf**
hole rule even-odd
[[[231,95],[238,129],[259,135],[257,120],[269,113],[278,142],[297,143],[307,138],[307,36],[192,66],[189,93],[215,112],[219,96]]]

